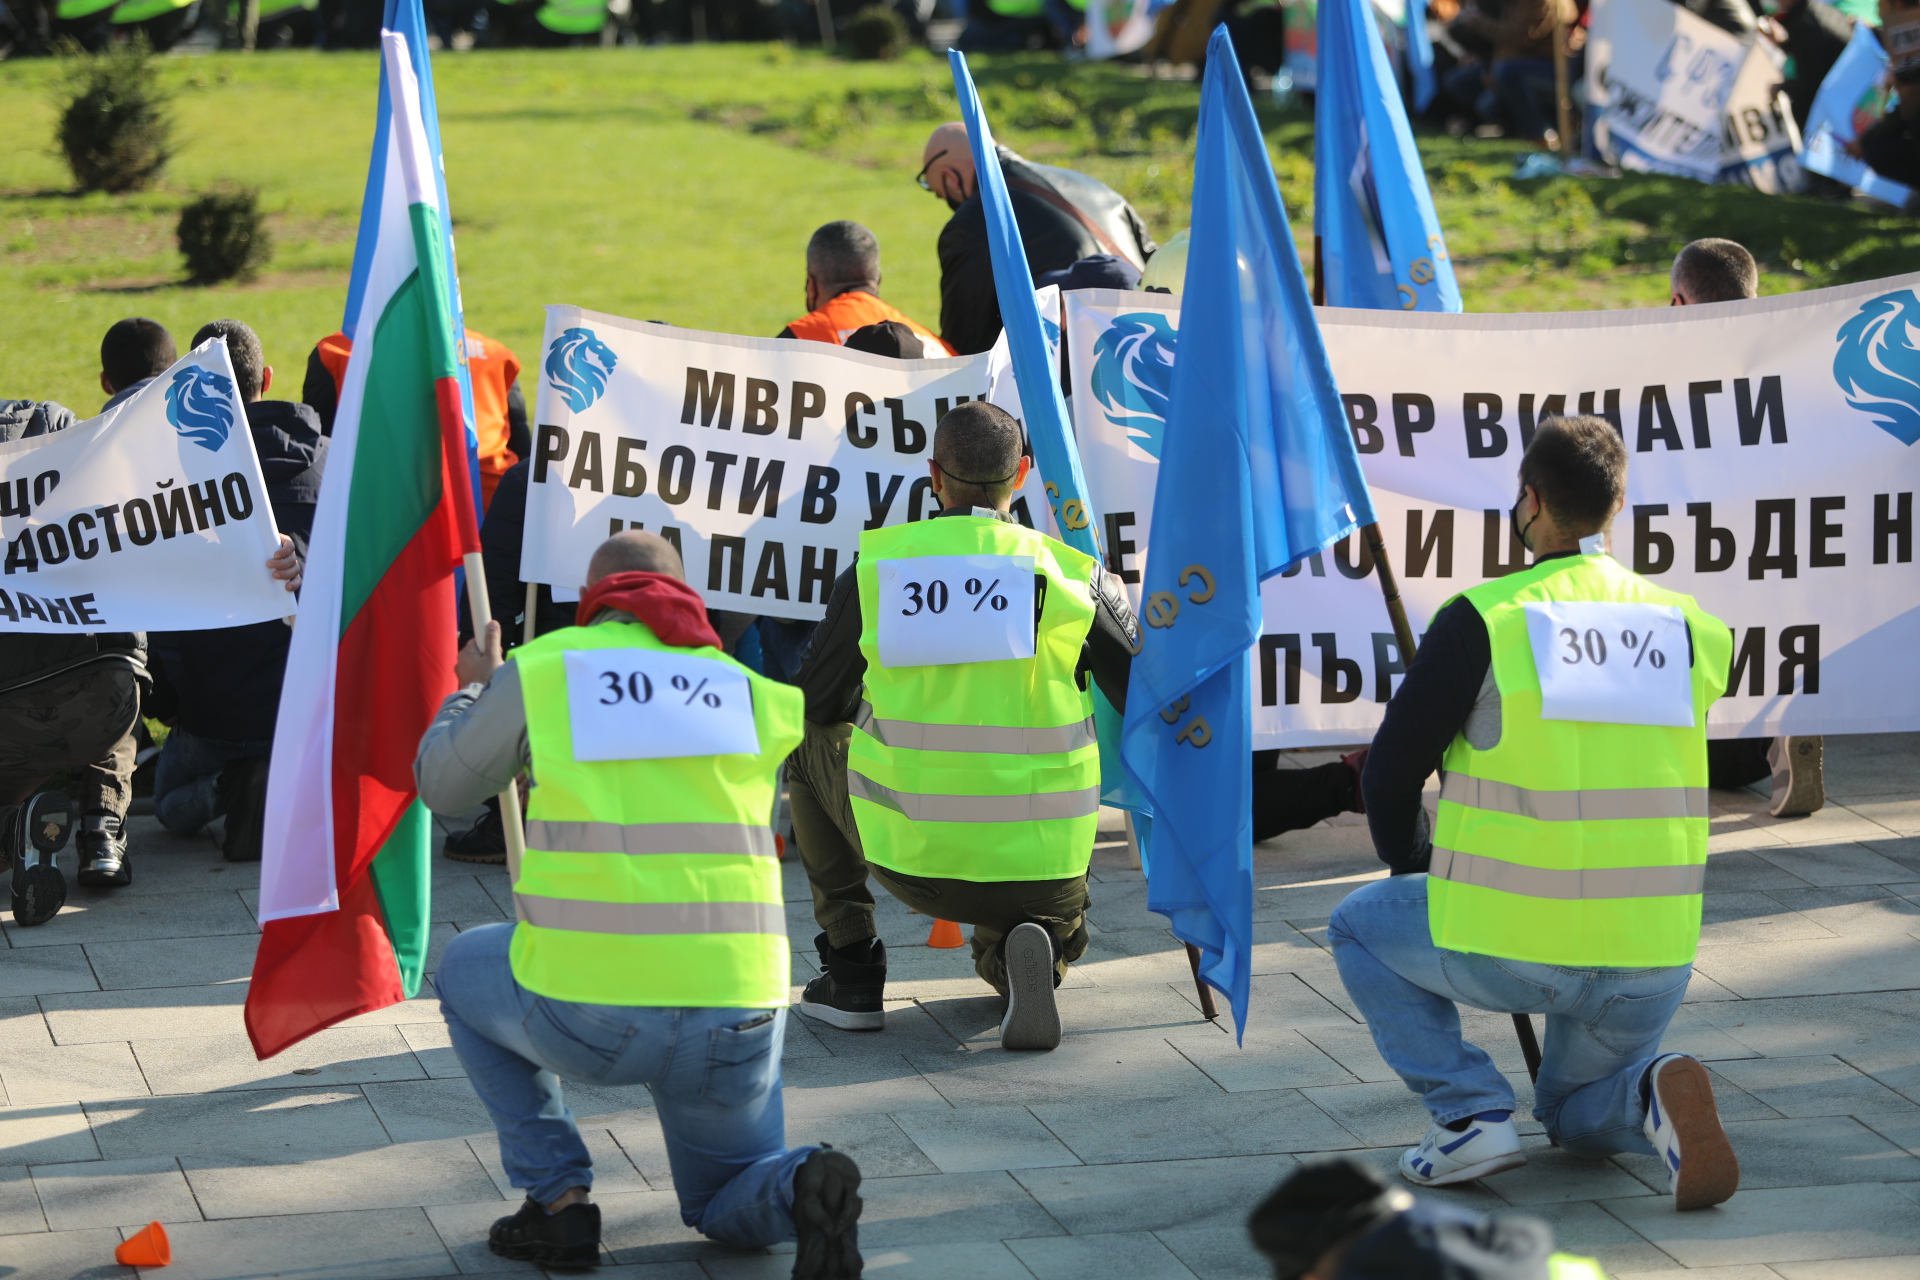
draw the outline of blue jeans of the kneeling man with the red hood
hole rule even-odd
[[[453,1052],[499,1132],[507,1178],[551,1203],[593,1186],[561,1077],[645,1084],[666,1134],[680,1219],[735,1249],[793,1240],[793,1173],[780,1102],[785,1009],[568,1004],[513,981],[515,925],[468,929],[434,975]]]

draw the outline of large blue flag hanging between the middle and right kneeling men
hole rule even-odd
[[[1123,756],[1152,808],[1146,906],[1204,952],[1246,1029],[1254,933],[1260,583],[1373,499],[1321,344],[1267,144],[1225,29],[1208,48],[1181,355],[1154,491],[1146,629]]]

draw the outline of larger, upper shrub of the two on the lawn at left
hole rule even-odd
[[[67,46],[71,65],[58,90],[60,152],[83,192],[132,192],[154,182],[173,157],[171,94],[146,36],[104,54]]]

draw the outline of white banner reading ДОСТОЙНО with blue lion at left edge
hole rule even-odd
[[[0,445],[0,633],[196,631],[294,597],[234,390],[209,340],[111,413]]]

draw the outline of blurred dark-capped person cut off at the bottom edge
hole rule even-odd
[[[1356,1159],[1296,1171],[1246,1228],[1273,1280],[1605,1280],[1532,1215],[1419,1203]]]

